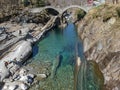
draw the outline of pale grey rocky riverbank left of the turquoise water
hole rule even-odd
[[[1,90],[26,90],[35,77],[46,77],[45,74],[30,74],[23,68],[23,63],[32,53],[32,45],[55,26],[57,17],[46,15],[22,12],[0,24]]]

